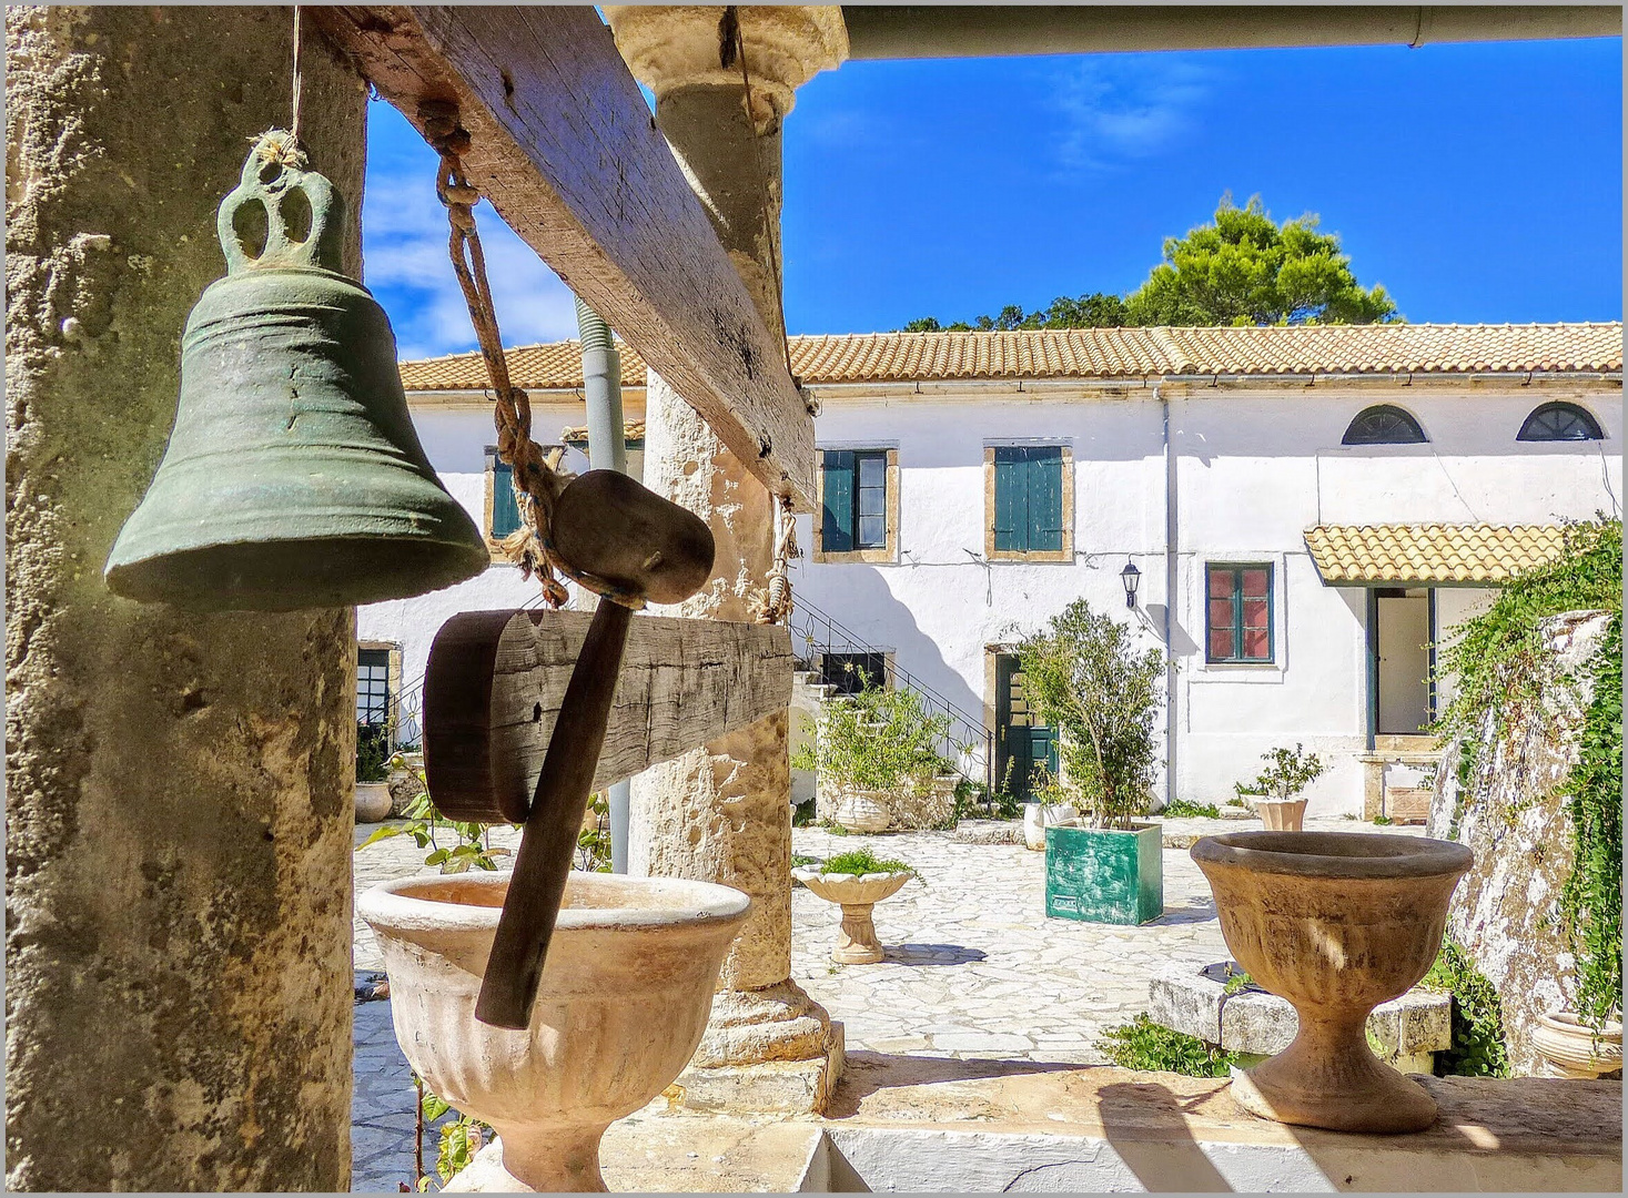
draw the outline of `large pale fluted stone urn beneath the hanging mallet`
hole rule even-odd
[[[357,903],[396,1038],[425,1084],[490,1123],[537,1191],[604,1190],[599,1138],[684,1069],[747,898],[710,882],[573,872],[524,1032],[475,1021],[510,876],[404,877]]]

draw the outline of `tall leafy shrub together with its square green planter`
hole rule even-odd
[[[1083,827],[1045,830],[1045,913],[1148,923],[1164,913],[1164,858],[1153,806],[1153,721],[1164,658],[1130,627],[1076,599],[1017,654],[1032,705],[1058,731],[1061,778]]]

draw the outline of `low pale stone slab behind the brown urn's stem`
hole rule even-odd
[[[1208,967],[1219,973],[1216,967]],[[1226,982],[1192,965],[1166,965],[1148,983],[1148,1017],[1245,1056],[1281,1053],[1299,1030],[1289,1001],[1260,988],[1226,993]],[[1368,1017],[1369,1043],[1403,1073],[1429,1073],[1433,1055],[1452,1047],[1452,996],[1410,990]]]

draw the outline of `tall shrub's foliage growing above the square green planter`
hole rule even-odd
[[[1065,788],[1097,827],[1130,827],[1153,804],[1164,656],[1138,653],[1128,625],[1076,599],[1017,646],[1024,687],[1058,729]]]

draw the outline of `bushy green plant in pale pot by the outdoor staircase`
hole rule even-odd
[[[947,731],[913,690],[866,684],[825,700],[791,767],[816,772],[821,814],[848,832],[944,827],[956,814],[954,765],[938,749]]]

